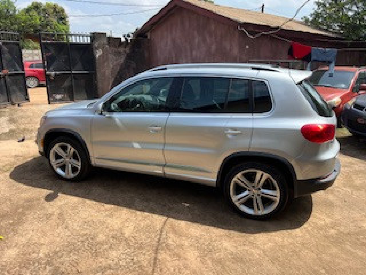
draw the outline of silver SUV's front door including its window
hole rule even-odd
[[[97,166],[163,174],[172,80],[160,77],[138,81],[107,100],[91,129]]]

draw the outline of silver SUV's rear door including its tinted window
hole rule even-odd
[[[249,80],[184,77],[177,97],[165,130],[164,172],[214,185],[223,159],[249,150]]]

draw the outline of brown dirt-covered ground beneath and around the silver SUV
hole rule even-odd
[[[53,107],[0,109],[0,274],[365,274],[366,147],[347,131],[334,186],[259,222],[193,183],[56,179],[34,144]]]

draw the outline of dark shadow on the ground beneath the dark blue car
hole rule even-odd
[[[366,161],[366,139],[341,136],[337,137],[337,140],[340,144],[340,153]]]

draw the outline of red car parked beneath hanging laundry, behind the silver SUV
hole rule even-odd
[[[328,70],[315,70],[309,81],[340,117],[348,101],[366,93],[366,67],[336,67],[333,76],[329,76]]]

